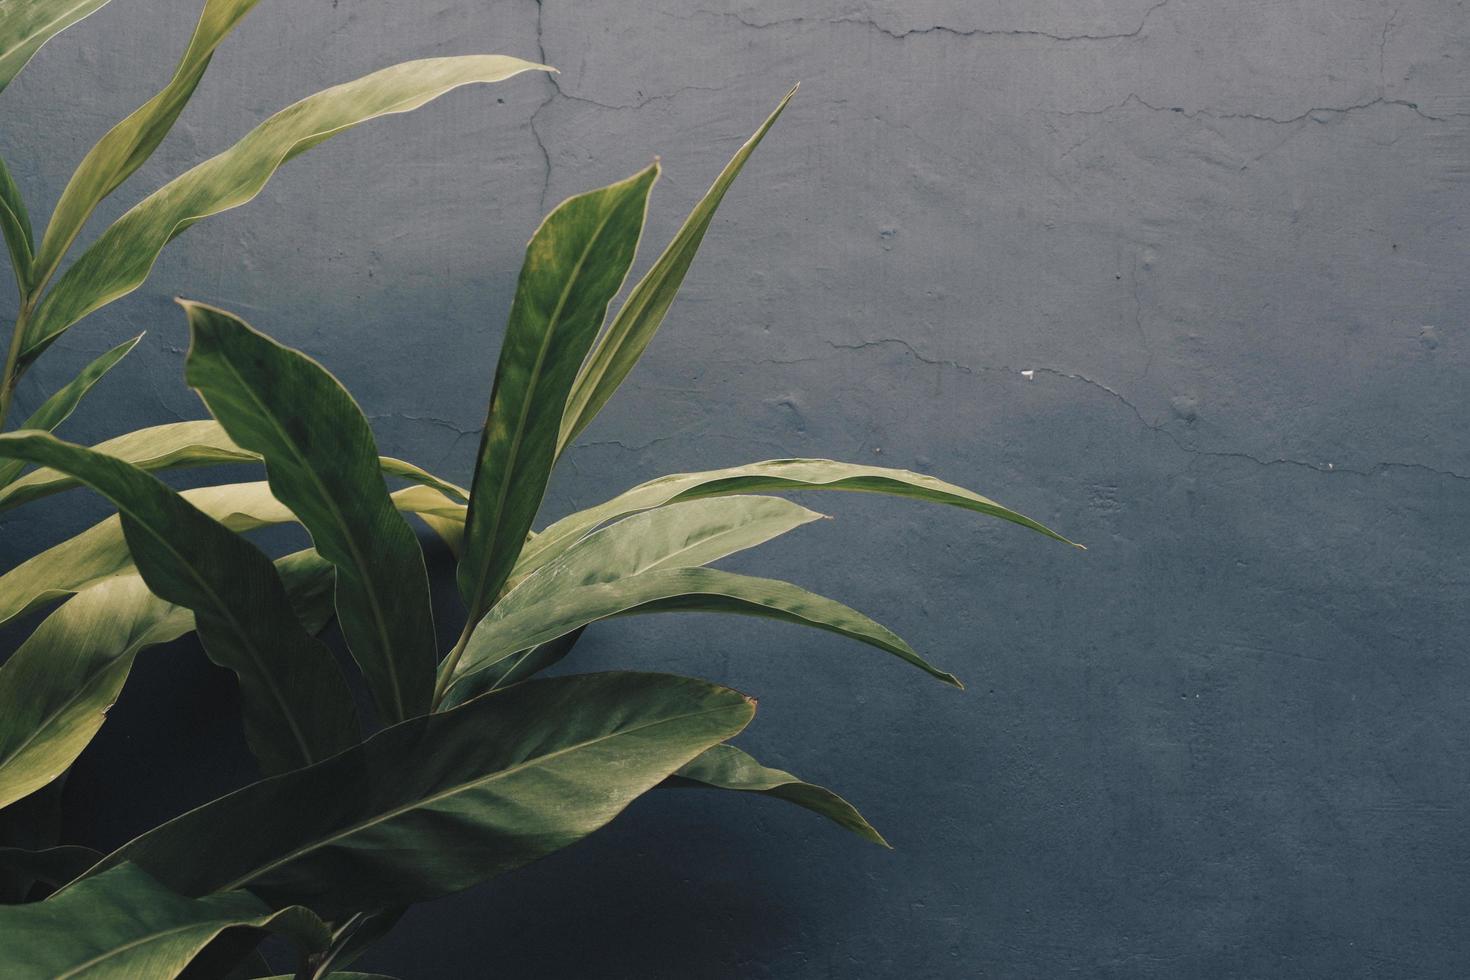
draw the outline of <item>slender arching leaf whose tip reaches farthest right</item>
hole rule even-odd
[[[747,466],[732,466],[723,470],[701,473],[673,473],[656,480],[639,483],[617,497],[569,514],[556,522],[526,545],[516,566],[513,580],[520,580],[538,567],[559,555],[572,542],[585,536],[600,525],[653,507],[675,501],[722,497],[725,494],[757,494],[779,491],[839,489],[866,494],[886,494],[932,504],[950,504],[979,514],[1000,517],[1048,538],[1075,545],[1045,525],[1017,514],[988,497],[954,483],[945,483],[925,473],[910,473],[881,466],[860,466],[835,460],[766,460]],[[1075,545],[1080,547],[1080,545]]]

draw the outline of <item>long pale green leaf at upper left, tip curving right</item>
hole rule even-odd
[[[173,237],[250,201],[287,160],[369,119],[410,112],[462,85],[498,82],[532,69],[545,66],[495,54],[404,62],[282,109],[107,228],[37,307],[22,359],[34,359],[72,323],[143,285]]]

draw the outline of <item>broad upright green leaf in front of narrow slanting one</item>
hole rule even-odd
[[[628,276],[657,178],[654,163],[567,198],[526,247],[470,483],[459,564],[470,621],[495,601],[541,507],[567,392]]]

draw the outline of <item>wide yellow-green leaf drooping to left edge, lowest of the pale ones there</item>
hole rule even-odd
[[[320,630],[332,608],[332,566],[298,551],[278,558],[276,570],[307,632]],[[154,598],[137,574],[104,579],[51,613],[0,664],[0,807],[76,761],[140,651],[193,630],[194,614]]]

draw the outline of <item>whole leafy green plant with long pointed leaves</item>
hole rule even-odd
[[[31,4],[41,6],[54,7],[53,26],[65,26],[100,3]],[[197,32],[191,53],[218,44],[206,25],[219,28],[226,10],[243,15],[250,6],[210,0],[200,31],[213,40],[206,44]],[[0,66],[12,75],[13,53],[26,50],[15,41],[18,25],[25,26],[13,13],[0,25],[9,32]],[[150,135],[112,156],[135,167],[206,62],[207,51],[185,56],[175,84],[185,81],[154,100],[172,115],[150,116],[137,126]],[[535,68],[494,63],[498,76]],[[419,68],[400,66],[407,71],[392,78],[420,85],[417,101],[447,85],[444,72],[460,81],[491,73],[484,59],[462,68],[412,65]],[[438,81],[423,88],[425,73]],[[50,435],[65,417],[53,411],[0,435],[0,460],[10,467],[0,508],[78,485],[118,508],[0,576],[0,621],[65,599],[0,666],[0,829],[7,815],[13,826],[44,826],[26,820],[54,802],[134,658],[188,632],[238,676],[245,735],[263,776],[110,855],[44,846],[44,833],[18,835],[16,846],[0,848],[0,898],[22,902],[0,908],[0,973],[265,976],[253,949],[273,932],[300,949],[297,977],[345,976],[341,970],[407,905],[579,840],[659,786],[772,795],[883,843],[839,796],[728,743],[754,716],[745,695],[672,674],[535,676],[598,620],[720,611],[841,633],[958,686],[856,610],[786,582],[709,567],[819,517],[770,492],[908,497],[1064,541],[935,478],[831,460],[666,476],[532,530],[553,466],[648,345],[716,207],[789,98],[735,154],[606,329],[642,234],[657,163],[572,197],[545,217],[520,270],[469,489],[381,457],[366,417],[323,367],[223,310],[187,301],[187,382],[212,420],[85,448]],[[300,115],[312,113],[293,118]],[[259,137],[263,131],[273,135]],[[244,200],[238,181],[220,190],[235,181],[220,175],[238,175],[240,162],[253,160],[243,169],[257,188],[281,159],[325,138],[318,129],[303,143],[301,132],[268,122],[238,144],[273,147],[265,157],[237,145],[151,195],[44,297],[51,253],[65,251],[75,232],[57,232],[62,244],[47,248],[49,231],[35,253],[41,259],[32,257],[7,184],[15,204],[6,228],[7,235],[10,226],[21,229],[12,256],[22,295],[7,391],[10,370],[24,370],[60,329],[141,282],[179,229],[179,215]],[[106,191],[98,188],[116,187],[121,170],[106,172],[84,181],[93,190],[78,200],[100,200]],[[169,191],[179,182],[184,190]],[[206,200],[215,203],[201,210]],[[140,209],[143,217],[134,217]],[[75,206],[57,209],[74,213]],[[72,404],[88,383],[74,382]],[[263,463],[266,482],[176,492],[150,475],[240,461]],[[37,469],[19,475],[25,466]],[[390,492],[388,479],[407,485]],[[457,557],[465,627],[442,657],[425,555],[404,514],[422,519]],[[287,522],[310,532],[312,550],[272,560],[243,536]],[[318,639],[332,617],[370,693],[368,729],[376,730],[366,739],[350,680]]]

